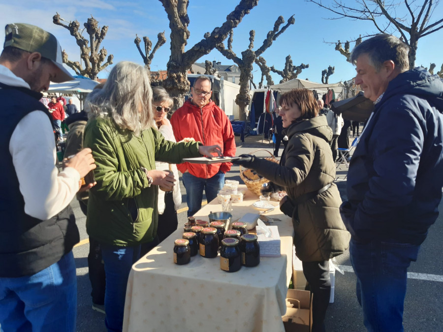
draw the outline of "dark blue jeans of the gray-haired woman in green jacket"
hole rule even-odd
[[[122,331],[126,286],[132,264],[140,258],[141,245],[119,247],[101,245],[106,273],[105,324],[108,331]]]

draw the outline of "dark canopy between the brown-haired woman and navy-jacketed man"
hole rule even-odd
[[[374,111],[374,102],[360,91],[355,97],[332,103],[331,109],[345,120],[364,122]]]

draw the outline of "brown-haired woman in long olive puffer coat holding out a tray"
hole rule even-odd
[[[313,293],[312,331],[324,332],[331,295],[329,259],[342,254],[350,238],[340,217],[342,200],[334,183],[335,164],[328,146],[332,132],[326,118],[317,116],[312,91],[285,92],[280,103],[289,139],[280,165],[249,154],[233,163],[253,169],[287,192],[280,209],[292,217],[295,253]]]

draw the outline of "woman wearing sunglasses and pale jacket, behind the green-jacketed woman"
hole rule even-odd
[[[171,122],[167,119],[173,101],[168,92],[162,87],[152,88],[152,109],[154,110],[154,121],[158,131],[164,139],[176,142],[172,131]],[[182,193],[178,183],[179,175],[175,164],[156,161],[156,168],[163,171],[172,171],[176,184],[170,191],[158,190],[158,240],[161,242],[171,235],[178,226],[177,209],[182,204]]]

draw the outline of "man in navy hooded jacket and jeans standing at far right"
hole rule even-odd
[[[400,39],[382,34],[351,55],[355,83],[375,104],[341,207],[369,331],[403,331],[407,270],[442,198],[443,81],[424,68],[408,70],[408,52]]]

